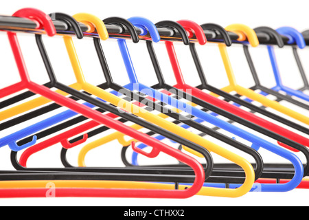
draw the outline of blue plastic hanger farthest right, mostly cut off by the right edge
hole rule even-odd
[[[277,32],[279,34],[287,36],[290,39],[290,41],[288,41],[288,43],[290,43],[290,44],[296,43],[297,46],[300,49],[304,49],[304,47],[306,47],[306,42],[305,42],[304,36],[300,32],[298,32],[297,30],[295,30],[294,28],[282,27],[282,28],[278,28]],[[282,83],[282,78],[280,76],[279,67],[278,67],[278,64],[277,64],[277,61],[276,61],[274,47],[271,46],[271,45],[268,45],[267,48],[268,48],[269,57],[271,58],[271,65],[273,67],[273,73],[275,75],[275,81],[276,81],[276,84],[277,84],[272,89],[275,90],[275,91],[284,91],[284,92],[286,92],[286,94],[288,94],[290,96],[296,96],[298,98],[301,98],[301,99],[309,102],[309,96],[308,95],[304,94],[302,91],[291,89],[290,87],[286,87]]]

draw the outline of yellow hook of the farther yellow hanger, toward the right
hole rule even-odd
[[[249,28],[247,25],[236,23],[236,24],[227,26],[225,30],[227,30],[228,32],[237,32],[238,34],[242,34],[243,36],[246,36],[252,47],[258,47],[258,45],[260,45],[258,36],[256,36],[255,31]]]

